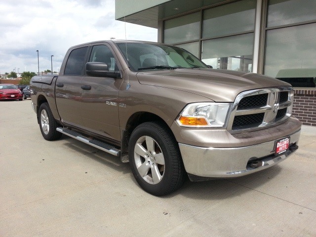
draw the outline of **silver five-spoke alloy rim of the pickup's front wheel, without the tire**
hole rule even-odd
[[[164,157],[158,143],[150,136],[140,137],[134,148],[138,173],[149,184],[158,184],[164,174]]]

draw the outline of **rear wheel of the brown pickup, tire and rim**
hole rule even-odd
[[[45,140],[53,141],[61,137],[62,133],[56,130],[59,125],[51,113],[48,103],[40,105],[39,124],[41,135]]]

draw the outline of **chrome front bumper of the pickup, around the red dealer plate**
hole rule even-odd
[[[300,133],[298,130],[285,136],[290,137],[292,148],[298,145]],[[189,176],[229,178],[266,169],[286,159],[295,150],[289,149],[275,156],[275,144],[276,140],[237,148],[203,148],[181,143],[179,147]]]

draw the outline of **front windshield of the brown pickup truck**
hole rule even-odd
[[[117,42],[116,44],[125,61],[127,45],[128,66],[134,72],[175,68],[207,68],[193,54],[175,46],[145,42]]]

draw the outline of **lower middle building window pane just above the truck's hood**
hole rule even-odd
[[[202,61],[217,69],[252,71],[253,33],[202,42]]]

